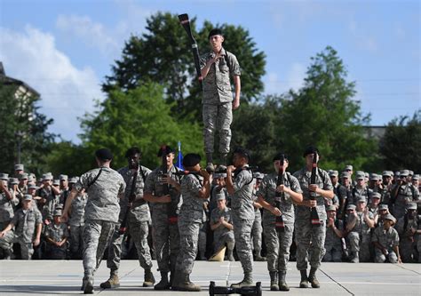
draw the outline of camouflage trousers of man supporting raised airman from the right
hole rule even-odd
[[[233,217],[234,238],[238,259],[244,272],[253,271],[253,253],[251,252],[251,227],[253,220],[242,220]]]

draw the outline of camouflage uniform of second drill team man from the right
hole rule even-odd
[[[258,196],[261,196],[268,204],[276,206],[274,197],[276,195],[276,182],[278,174],[268,174],[262,180],[260,188],[258,188]],[[290,172],[284,172],[284,186],[291,188],[292,191],[302,193],[297,178],[292,176]],[[266,244],[267,269],[269,272],[286,271],[288,261],[290,260],[290,245],[292,244],[292,236],[294,232],[294,204],[289,194],[284,193],[281,200],[280,211],[285,224],[284,231],[276,231],[276,216],[272,212],[263,211],[263,233]]]

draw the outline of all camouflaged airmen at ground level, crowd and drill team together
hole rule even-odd
[[[267,260],[274,291],[289,290],[285,276],[290,259],[297,260],[301,287],[320,286],[315,271],[322,260],[421,262],[419,175],[409,170],[381,175],[355,172],[353,178],[352,165],[340,173],[318,169],[317,198],[311,201],[309,190],[314,190],[314,185],[309,185],[306,167],[312,165],[313,153],[318,150],[306,149],[302,170],[284,172],[282,188],[276,181],[281,159],[287,168],[288,156],[274,156],[274,172],[266,175],[251,169],[234,172],[235,167],[248,167],[250,153],[242,148],[234,150],[235,167],[213,175],[200,168],[200,156],[194,154],[185,157],[190,173],[183,173],[173,165],[175,153],[168,146],[158,153],[160,157],[166,155],[166,175],[162,166],[151,171],[141,165],[139,148],[128,149],[128,165],[118,174],[107,175],[102,167],[102,177],[101,169],[95,169],[81,178],[61,174],[54,180],[51,173],[45,173],[37,180],[24,171],[23,164],[16,164],[13,178],[0,173],[0,256],[81,259],[84,248],[84,252],[93,253],[92,260],[83,260],[85,277],[89,278],[107,250],[110,278],[100,286],[116,288],[120,285],[120,260],[132,245],[145,270],[144,286],[155,284],[151,271],[155,258],[161,274],[155,289],[181,291],[200,291],[188,277],[194,261],[207,260],[224,247],[226,260],[236,257],[242,263],[244,279],[239,286],[252,283],[252,260]],[[107,188],[113,178],[119,187]],[[136,197],[129,202],[133,180]],[[99,182],[100,190],[107,192],[99,194],[99,204],[87,206],[90,187]],[[165,185],[169,190],[164,194]],[[115,208],[104,202],[104,196],[113,190],[115,195],[123,195]],[[274,196],[279,190],[285,198],[277,208]],[[250,203],[246,203],[247,196],[251,196]],[[176,209],[175,220],[171,220],[169,204]],[[308,208],[314,206],[322,220],[319,228],[309,223]],[[280,214],[285,222],[282,232],[274,227]],[[97,225],[87,220],[111,222]],[[123,220],[127,230],[122,228]],[[87,250],[91,240],[96,240],[93,246],[98,250]],[[311,267],[308,275],[307,261]]]

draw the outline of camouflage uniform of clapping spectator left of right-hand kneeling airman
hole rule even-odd
[[[357,221],[355,222],[355,226],[353,229],[348,233],[347,239],[349,242],[349,246],[351,252],[358,253],[360,261],[367,262],[369,261],[369,247],[371,245],[371,235],[370,235],[370,228],[366,224],[364,220],[364,212],[356,212],[357,213]],[[351,220],[355,217],[353,215],[349,215],[346,224],[349,224]],[[374,219],[374,215],[372,212],[369,212],[369,219]],[[377,227],[378,228],[378,227]]]

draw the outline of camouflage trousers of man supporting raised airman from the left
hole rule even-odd
[[[190,275],[195,265],[201,222],[179,220],[179,256],[176,271]]]

